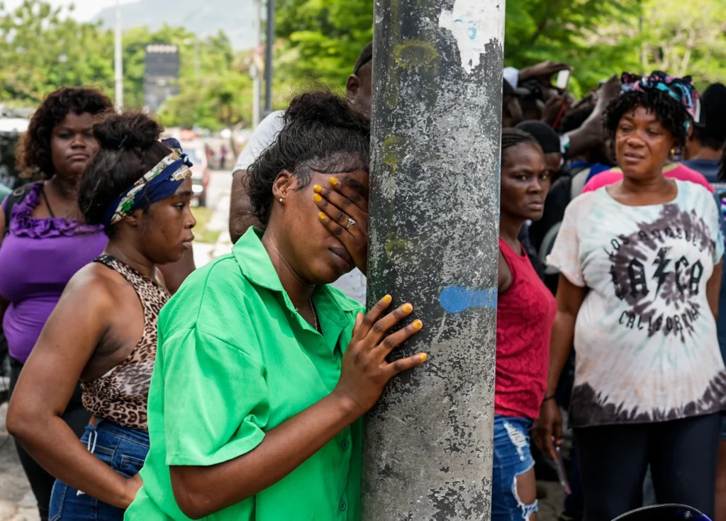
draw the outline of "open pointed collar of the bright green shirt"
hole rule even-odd
[[[250,227],[237,241],[237,244],[232,247],[234,259],[240,265],[242,274],[250,282],[274,292],[281,292],[285,296],[287,308],[290,311],[295,311],[295,306],[290,297],[287,296],[285,288],[282,287],[280,277],[277,276],[277,271],[272,266],[272,260],[270,260],[264,245],[262,245],[263,234],[263,231]],[[313,302],[319,312],[325,313],[341,326],[348,324],[350,320],[343,312],[358,311],[360,309],[358,303],[332,290],[327,285],[317,288],[313,295]]]

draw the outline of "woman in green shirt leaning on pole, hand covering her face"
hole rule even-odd
[[[359,519],[361,417],[425,354],[386,356],[421,321],[365,316],[327,286],[365,269],[370,123],[297,97],[250,167],[264,234],[197,270],[160,313],[150,452],[127,521]]]

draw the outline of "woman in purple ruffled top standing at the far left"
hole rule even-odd
[[[81,223],[76,194],[98,148],[91,134],[94,116],[112,107],[95,89],[60,89],[38,107],[23,136],[21,166],[45,180],[9,196],[17,199],[9,222],[0,213],[0,317],[11,357],[11,394],[70,277],[106,245],[102,226]],[[62,418],[80,436],[90,416],[77,387]],[[46,521],[54,477],[19,445],[17,451]]]

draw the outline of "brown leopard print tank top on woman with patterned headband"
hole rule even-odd
[[[94,262],[118,271],[134,287],[144,308],[144,332],[126,360],[97,380],[83,383],[83,406],[99,418],[131,429],[148,430],[147,401],[156,358],[156,322],[171,295],[111,255],[103,255]]]

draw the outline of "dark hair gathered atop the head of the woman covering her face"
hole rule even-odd
[[[351,131],[365,131],[370,121],[362,114],[351,110],[348,100],[330,91],[311,91],[295,97],[285,111],[285,124],[301,124],[330,128],[346,128]],[[368,130],[370,133],[370,130]]]

